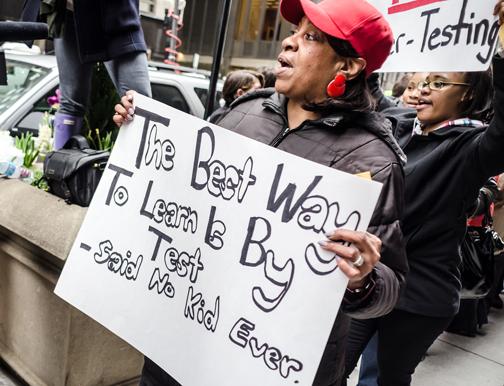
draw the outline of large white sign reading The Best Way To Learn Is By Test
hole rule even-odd
[[[183,385],[309,385],[379,183],[137,95],[55,292]]]

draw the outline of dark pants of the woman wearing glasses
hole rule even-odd
[[[410,385],[418,363],[451,319],[394,310],[377,319],[352,320],[345,358],[346,376],[353,371],[369,339],[378,331],[378,384]]]

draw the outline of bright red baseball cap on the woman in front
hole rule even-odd
[[[298,24],[303,16],[328,35],[348,41],[366,60],[366,75],[379,69],[390,54],[394,36],[390,25],[365,0],[282,0],[282,16]]]

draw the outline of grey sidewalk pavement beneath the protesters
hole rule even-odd
[[[504,310],[492,309],[488,319],[474,338],[441,335],[417,367],[412,386],[504,386]],[[356,370],[348,385],[357,379]],[[0,363],[0,386],[21,385]]]

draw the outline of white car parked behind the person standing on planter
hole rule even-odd
[[[5,56],[8,84],[0,86],[0,130],[9,130],[13,136],[22,132],[37,136],[44,111],[49,110],[47,98],[55,95],[59,85],[56,58],[8,51]],[[192,69],[177,72],[162,63],[149,63],[152,97],[203,118],[210,83],[207,74]],[[217,90],[219,100],[222,82]]]

